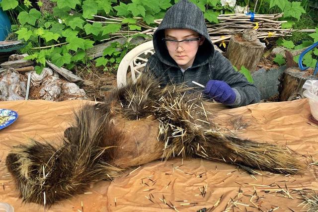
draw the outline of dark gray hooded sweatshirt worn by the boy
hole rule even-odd
[[[184,73],[176,62],[170,57],[165,43],[164,29],[187,28],[198,32],[205,37],[203,45],[199,46],[193,65]],[[235,71],[231,62],[218,51],[214,51],[213,44],[205,24],[202,11],[188,0],[180,0],[170,7],[160,23],[153,37],[155,54],[146,64],[146,71],[150,71],[162,80],[162,85],[167,83],[185,83],[195,87],[197,91],[204,88],[196,86],[192,81],[206,85],[210,79],[223,80],[228,83],[236,93],[236,100],[231,107],[239,107],[260,100],[260,92],[245,76]]]

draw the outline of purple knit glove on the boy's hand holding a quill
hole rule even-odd
[[[203,91],[210,98],[223,104],[232,104],[235,101],[236,94],[234,90],[225,81],[210,79]]]

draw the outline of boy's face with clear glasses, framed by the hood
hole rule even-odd
[[[172,39],[177,41],[190,39],[188,41],[180,43],[166,41],[166,46],[169,55],[180,68],[185,70],[188,67],[192,66],[198,48],[204,42],[204,37],[199,37],[199,33],[191,29],[165,29],[164,35],[165,39]],[[200,38],[200,40],[195,40],[195,38]]]

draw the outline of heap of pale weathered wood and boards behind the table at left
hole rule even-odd
[[[44,68],[41,74],[34,70],[32,61],[24,55],[11,55],[9,61],[0,64],[0,101],[44,99],[60,101],[66,99],[87,99],[85,91],[74,81],[83,81],[73,73],[62,70],[65,78],[58,73],[58,67]],[[73,75],[72,75],[73,74]]]

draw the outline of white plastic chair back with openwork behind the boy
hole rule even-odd
[[[155,53],[153,41],[143,43],[128,52],[119,64],[117,70],[117,87],[127,83],[127,71],[130,69],[133,82],[140,77],[148,58]],[[147,56],[150,54],[149,56]],[[129,77],[129,76],[128,76]]]

